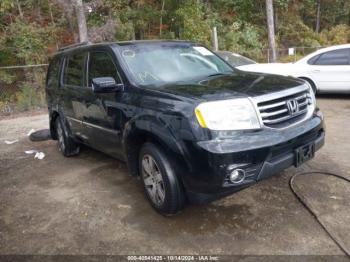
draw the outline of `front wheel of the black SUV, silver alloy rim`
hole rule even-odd
[[[170,216],[184,208],[185,193],[176,176],[175,162],[160,147],[152,143],[142,146],[139,172],[146,196],[157,212]]]

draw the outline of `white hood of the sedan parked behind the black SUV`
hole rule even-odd
[[[248,71],[248,72],[258,72],[266,74],[278,74],[288,76],[289,72],[293,69],[292,63],[270,63],[270,64],[250,64],[238,66],[237,69]]]

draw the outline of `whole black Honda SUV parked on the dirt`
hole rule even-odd
[[[62,154],[84,144],[125,161],[164,215],[299,166],[324,144],[308,83],[239,71],[192,42],[60,49],[46,92]]]

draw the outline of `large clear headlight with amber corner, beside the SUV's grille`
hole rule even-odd
[[[253,104],[247,98],[205,102],[195,109],[201,127],[211,130],[244,130],[260,128]]]

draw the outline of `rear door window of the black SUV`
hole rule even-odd
[[[84,84],[84,61],[85,54],[75,54],[67,57],[64,84],[72,86],[83,86]]]

